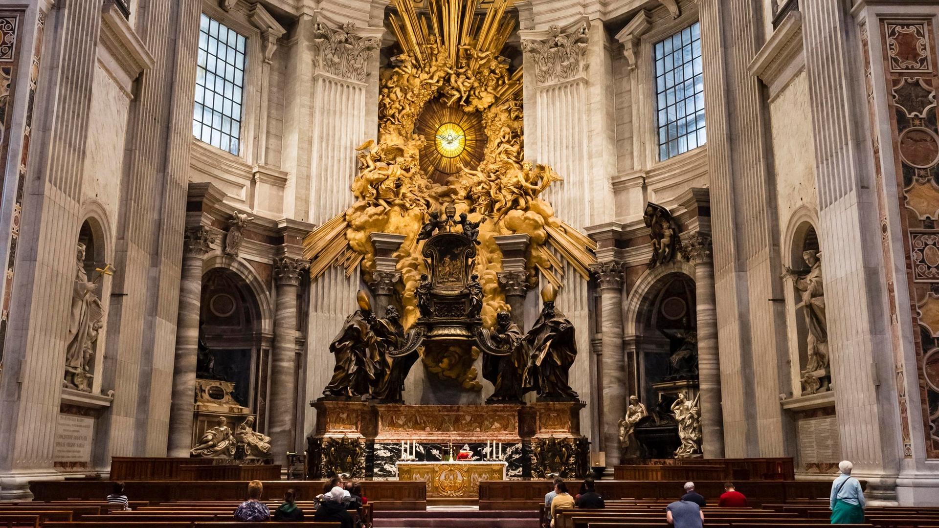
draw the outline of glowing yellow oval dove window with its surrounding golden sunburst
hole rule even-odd
[[[475,168],[485,154],[482,117],[443,101],[431,101],[417,118],[414,132],[423,135],[421,169],[427,178],[445,183],[460,167]]]

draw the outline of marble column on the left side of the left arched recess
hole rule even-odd
[[[202,225],[187,228],[183,239],[168,457],[189,457],[189,450],[192,449],[192,405],[195,403],[195,364],[199,349],[202,266],[214,241],[215,235]]]

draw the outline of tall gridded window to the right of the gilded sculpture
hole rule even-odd
[[[668,160],[707,141],[700,23],[655,43],[658,159]]]

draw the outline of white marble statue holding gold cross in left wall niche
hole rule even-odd
[[[110,266],[102,270],[100,276],[103,276],[108,268]],[[65,385],[85,392],[91,392],[95,350],[104,318],[104,308],[96,295],[98,287],[97,280],[88,281],[85,272],[85,244],[79,242],[75,279],[71,290],[69,334],[66,340]]]

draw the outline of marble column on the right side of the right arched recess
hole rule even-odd
[[[700,384],[701,450],[704,458],[724,458],[724,428],[720,396],[720,361],[717,355],[717,311],[711,237],[693,234],[685,247],[695,266],[698,328],[698,382]]]

